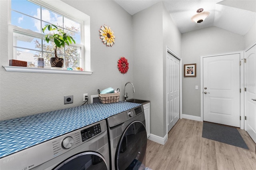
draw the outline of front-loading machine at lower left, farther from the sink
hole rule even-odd
[[[109,170],[109,167],[105,120],[0,158],[1,170]]]

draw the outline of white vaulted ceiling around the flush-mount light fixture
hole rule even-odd
[[[161,0],[114,0],[134,15]],[[216,26],[244,36],[256,22],[256,0],[163,0],[181,33]],[[210,15],[202,23],[192,22],[196,10]]]

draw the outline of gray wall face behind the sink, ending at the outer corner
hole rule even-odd
[[[135,98],[150,101],[150,132],[163,136],[162,4],[132,16]]]

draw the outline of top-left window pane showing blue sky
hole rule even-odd
[[[40,19],[40,6],[27,0],[12,0],[12,10]]]

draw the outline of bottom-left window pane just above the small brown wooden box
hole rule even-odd
[[[21,49],[21,48],[13,48],[13,55],[14,58],[17,58],[21,61],[27,61],[29,63],[36,63],[37,57],[41,56],[41,52],[34,51],[34,50],[28,50],[28,49]]]

